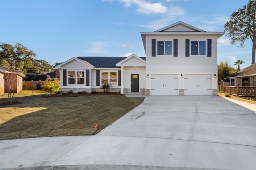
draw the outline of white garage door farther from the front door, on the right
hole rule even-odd
[[[212,74],[185,74],[184,95],[212,95]]]

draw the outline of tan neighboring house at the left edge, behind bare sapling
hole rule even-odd
[[[13,85],[16,83],[14,92],[18,93],[22,90],[22,78],[25,77],[22,72],[17,72],[10,68],[0,66],[0,95],[8,93],[10,83],[12,84],[11,90],[13,92]]]

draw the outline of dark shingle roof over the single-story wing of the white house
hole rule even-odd
[[[127,57],[77,57],[80,60],[87,61],[96,68],[118,68],[116,63]],[[146,57],[140,57],[146,61]]]

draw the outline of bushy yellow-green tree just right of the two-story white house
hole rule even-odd
[[[230,76],[231,74],[234,74],[236,71],[236,68],[231,67],[231,65],[228,64],[227,61],[225,61],[224,63],[221,61],[218,64],[218,82],[220,83],[221,79]]]

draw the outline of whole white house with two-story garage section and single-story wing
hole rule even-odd
[[[218,95],[217,39],[182,21],[141,32],[146,57],[77,57],[58,65],[60,91],[99,91],[144,95]]]

